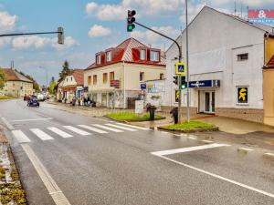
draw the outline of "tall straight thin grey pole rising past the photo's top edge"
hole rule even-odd
[[[190,121],[190,97],[189,97],[189,67],[188,67],[188,17],[187,17],[187,0],[185,0],[185,35],[186,35],[186,97],[187,97],[187,110],[186,110],[186,121]]]

